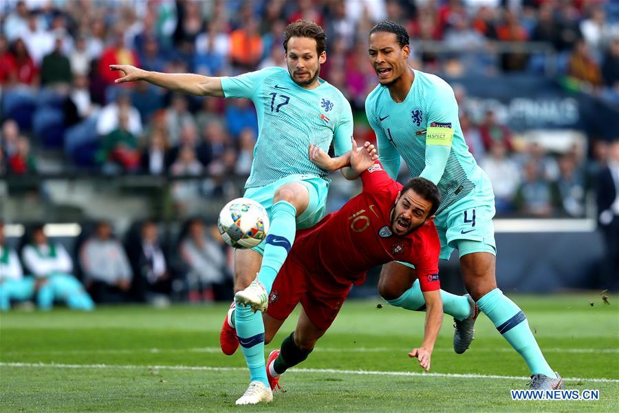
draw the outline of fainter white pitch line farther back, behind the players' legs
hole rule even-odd
[[[408,352],[410,348],[398,347],[316,347],[314,352]],[[435,348],[439,352],[453,352],[453,348]],[[512,348],[471,348],[471,352],[514,352]],[[175,353],[175,352],[203,352],[219,353],[219,347],[195,347],[195,348],[109,348],[93,350],[41,350],[41,351],[12,351],[3,352],[8,355],[18,354],[134,354],[134,353]],[[544,352],[563,352],[567,354],[619,354],[619,348],[544,348]]]

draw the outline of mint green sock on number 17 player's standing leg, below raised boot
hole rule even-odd
[[[269,386],[264,367],[264,323],[262,313],[252,313],[247,306],[237,306],[235,309],[235,327],[241,343],[241,351],[245,356],[247,368],[250,371],[250,381],[262,381]]]

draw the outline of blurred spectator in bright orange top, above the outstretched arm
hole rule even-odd
[[[262,59],[263,44],[255,18],[230,34],[230,61],[237,70],[251,71]]]

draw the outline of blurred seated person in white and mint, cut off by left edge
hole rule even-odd
[[[25,301],[34,295],[34,280],[23,277],[19,257],[5,245],[4,223],[0,222],[0,311],[8,311],[11,301]]]

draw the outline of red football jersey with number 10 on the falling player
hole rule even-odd
[[[310,229],[298,231],[291,254],[310,273],[327,273],[356,285],[366,272],[391,261],[413,264],[423,291],[439,286],[441,244],[434,222],[405,237],[393,235],[389,215],[402,184],[376,162],[361,174],[362,192]]]

